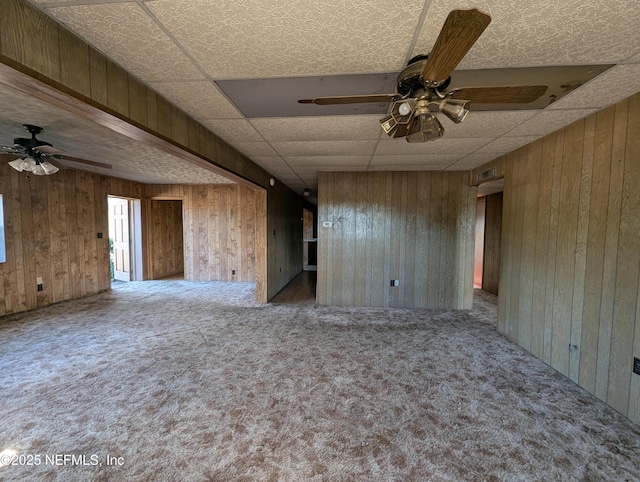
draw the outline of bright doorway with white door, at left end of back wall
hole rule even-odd
[[[108,196],[111,279],[142,279],[142,216],[139,199]]]

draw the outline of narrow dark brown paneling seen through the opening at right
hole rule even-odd
[[[500,286],[500,242],[502,240],[501,192],[485,196],[484,256],[482,260],[482,289],[498,294]]]

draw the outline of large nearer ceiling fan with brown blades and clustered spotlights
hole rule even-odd
[[[349,95],[300,99],[301,104],[354,104],[391,102],[389,114],[380,121],[391,137],[407,142],[426,142],[442,137],[444,127],[436,117],[442,112],[456,124],[475,103],[529,103],[540,98],[546,85],[463,87],[447,92],[451,74],[473,47],[491,17],[477,9],[453,10],[447,16],[429,55],[413,57],[397,79],[394,94]]]

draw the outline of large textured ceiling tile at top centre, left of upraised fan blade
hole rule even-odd
[[[423,3],[157,0],[146,5],[212,78],[229,79],[399,69]]]

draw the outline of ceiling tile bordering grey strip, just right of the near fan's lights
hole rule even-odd
[[[444,115],[439,115],[448,138],[460,137],[499,137],[527,119],[533,117],[537,110],[517,111],[473,111],[469,112],[460,124],[453,124]]]

